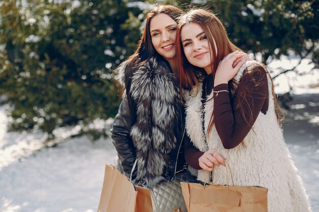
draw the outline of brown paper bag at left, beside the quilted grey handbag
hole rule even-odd
[[[152,212],[150,190],[135,186],[114,166],[106,165],[98,212]]]

